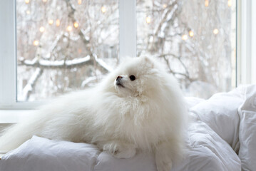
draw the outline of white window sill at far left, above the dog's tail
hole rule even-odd
[[[1,123],[19,123],[29,118],[35,110],[0,110]]]

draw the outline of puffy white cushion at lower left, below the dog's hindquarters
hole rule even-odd
[[[34,136],[17,149],[4,155],[0,160],[0,170],[91,171],[99,153],[93,145]]]

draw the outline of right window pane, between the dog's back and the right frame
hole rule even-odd
[[[138,56],[153,55],[188,96],[235,87],[235,0],[137,0]]]

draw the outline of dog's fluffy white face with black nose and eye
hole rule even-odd
[[[158,69],[152,59],[132,58],[119,66],[114,86],[119,95],[138,96],[157,88]]]

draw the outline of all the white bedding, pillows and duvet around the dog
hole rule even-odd
[[[195,117],[195,121],[188,128],[188,152],[182,162],[174,163],[172,170],[238,171],[241,170],[240,159],[242,170],[253,170],[255,165],[251,159],[255,160],[253,147],[256,143],[256,134],[253,130],[255,123],[252,124],[251,120],[255,122],[256,118],[255,96],[256,86],[245,86],[230,93],[219,93],[209,100],[187,98],[188,106],[191,107],[190,114]],[[247,100],[249,97],[250,100]],[[247,107],[247,103],[251,104],[250,108]],[[239,113],[237,108],[240,108]],[[241,124],[243,129],[240,127]],[[249,133],[250,140],[240,135],[241,133]],[[241,147],[238,137],[245,139]],[[235,150],[239,151],[239,155]],[[99,151],[93,145],[34,136],[16,150],[4,155],[0,160],[0,170],[155,171],[156,168],[155,159],[150,153],[138,152],[130,159],[116,159],[106,152]]]

